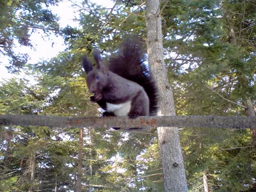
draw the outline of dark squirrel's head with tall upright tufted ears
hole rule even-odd
[[[109,84],[109,71],[106,65],[102,62],[99,50],[93,51],[93,57],[97,63],[97,67],[93,67],[92,61],[86,56],[83,56],[83,67],[87,74],[86,83],[89,92],[102,92]]]

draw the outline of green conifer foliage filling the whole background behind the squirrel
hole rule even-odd
[[[56,17],[42,8],[42,3],[50,1],[29,2],[20,4],[34,11],[20,11],[24,21],[17,17],[13,26],[24,22],[58,29]],[[0,14],[13,14],[10,3],[1,4],[8,9]],[[107,61],[126,35],[145,39],[145,17],[141,17],[145,4],[140,4],[117,1],[112,10],[81,3],[81,28],[61,30],[67,50],[31,66],[38,77],[36,84],[26,79],[1,84],[0,114],[100,115],[97,104],[89,100],[81,58],[84,53],[92,56],[98,47]],[[252,1],[173,0],[166,4],[161,14],[164,55],[178,115],[242,116],[246,115],[241,107],[244,99],[249,97],[255,104],[255,9]],[[8,23],[6,17],[0,19],[3,26]],[[29,32],[28,28],[15,30],[17,39]],[[36,164],[34,188],[44,191],[57,184],[60,191],[74,190],[78,140],[76,128],[1,127],[1,190],[28,191],[31,162]],[[256,161],[250,130],[180,127],[180,140],[190,191],[204,191],[204,174],[210,191],[253,190]],[[86,127],[83,141],[84,185],[104,186],[95,191],[164,191],[156,131],[124,134]]]

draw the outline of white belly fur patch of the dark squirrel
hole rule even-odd
[[[131,109],[131,100],[121,104],[107,102],[107,111],[115,113],[116,116],[127,116]]]

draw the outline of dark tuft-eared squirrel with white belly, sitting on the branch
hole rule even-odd
[[[144,63],[140,41],[125,40],[117,55],[109,59],[108,68],[98,50],[93,51],[93,57],[97,68],[93,68],[86,55],[83,56],[83,67],[89,92],[94,93],[90,100],[106,111],[103,116],[156,115],[157,86]]]

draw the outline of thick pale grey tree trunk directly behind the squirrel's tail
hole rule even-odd
[[[148,63],[159,88],[158,115],[175,115],[173,94],[168,83],[163,56],[159,0],[146,1]],[[161,77],[161,78],[160,78]],[[177,127],[158,127],[165,191],[188,191]]]

